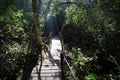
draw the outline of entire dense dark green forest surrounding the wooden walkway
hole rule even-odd
[[[0,80],[29,80],[51,30],[79,80],[120,80],[120,0],[0,0]]]

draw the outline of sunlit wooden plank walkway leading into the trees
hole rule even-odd
[[[58,38],[53,38],[51,42],[48,57],[43,60],[42,64],[33,69],[30,80],[61,80],[61,42]]]

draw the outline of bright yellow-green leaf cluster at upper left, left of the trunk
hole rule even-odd
[[[6,16],[1,16],[0,21],[6,23],[3,29],[6,29],[6,33],[10,33],[13,37],[18,37],[19,34],[24,32],[22,24],[22,10],[16,12],[10,10]]]

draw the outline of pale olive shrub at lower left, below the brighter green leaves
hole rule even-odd
[[[28,53],[28,45],[24,42],[22,45],[16,42],[4,42],[3,47],[5,53],[0,56],[0,79],[15,80],[18,75],[21,75],[22,68],[24,67],[25,55]]]

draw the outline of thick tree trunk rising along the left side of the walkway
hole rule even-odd
[[[31,45],[35,45],[36,49],[34,53],[30,53],[26,56],[27,63],[23,70],[22,80],[28,80],[30,78],[30,74],[32,69],[36,66],[37,61],[39,59],[39,55],[41,54],[42,47],[42,38],[41,33],[39,32],[39,9],[40,9],[41,0],[32,0],[32,9],[33,9],[33,34],[34,34],[34,42]],[[32,38],[33,38],[32,37]]]

